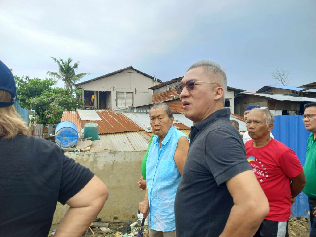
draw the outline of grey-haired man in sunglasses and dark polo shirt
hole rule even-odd
[[[193,64],[181,83],[191,141],[175,199],[180,237],[252,237],[269,203],[246,159],[244,143],[224,108],[225,72],[210,61]]]

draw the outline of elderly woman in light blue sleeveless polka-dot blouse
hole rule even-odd
[[[173,127],[174,118],[166,104],[154,104],[149,118],[155,136],[146,162],[145,199],[139,204],[139,210],[144,217],[148,216],[150,237],[174,237],[174,199],[189,140],[183,132]]]

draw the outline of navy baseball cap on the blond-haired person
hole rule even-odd
[[[12,95],[12,99],[10,102],[0,101],[0,107],[8,107],[13,105],[16,99],[16,87],[14,76],[11,70],[0,61],[0,90],[9,91]]]

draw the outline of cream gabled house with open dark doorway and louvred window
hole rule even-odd
[[[151,102],[153,87],[161,80],[132,66],[76,84],[82,89],[82,109],[117,109]]]

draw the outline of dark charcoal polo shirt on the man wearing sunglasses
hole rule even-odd
[[[218,110],[191,127],[188,156],[175,198],[179,237],[219,236],[234,204],[225,182],[251,170],[229,114],[229,109]]]

